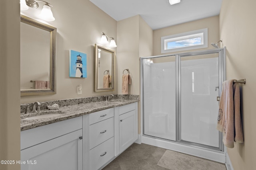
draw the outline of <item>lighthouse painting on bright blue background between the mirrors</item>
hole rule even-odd
[[[70,50],[69,51],[69,76],[70,77],[87,77],[86,54]]]

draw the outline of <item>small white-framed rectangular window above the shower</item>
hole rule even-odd
[[[208,28],[161,37],[161,53],[208,47]]]

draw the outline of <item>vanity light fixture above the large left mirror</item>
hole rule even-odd
[[[28,8],[24,7],[24,1],[26,2],[26,5],[30,8],[36,9],[39,7],[38,2],[44,2],[44,6],[43,9],[41,11],[40,14],[40,18],[42,18],[42,20],[46,20],[46,21],[54,21],[55,18],[53,17],[52,14],[52,10],[51,4],[49,4],[48,2],[42,1],[42,0],[20,0],[20,10],[27,10]]]

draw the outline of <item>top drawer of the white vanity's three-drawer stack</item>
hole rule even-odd
[[[99,121],[103,121],[110,117],[114,117],[114,108],[97,111],[89,114],[89,124],[97,123]]]

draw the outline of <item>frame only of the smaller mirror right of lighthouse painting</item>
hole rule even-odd
[[[112,86],[110,88],[99,88],[98,87],[98,49],[110,53],[112,56],[112,66],[111,66],[111,76],[112,76]],[[103,91],[113,91],[114,90],[114,65],[115,65],[115,51],[112,49],[108,49],[101,45],[95,44],[94,51],[94,92],[103,92]]]

